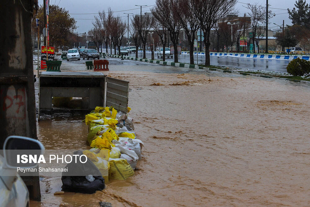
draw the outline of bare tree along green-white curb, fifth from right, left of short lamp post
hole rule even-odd
[[[146,46],[146,41],[148,38],[148,32],[154,26],[154,18],[151,15],[143,15],[141,16],[141,18],[139,15],[136,15],[134,19],[136,19],[135,22],[138,23],[138,32],[139,32],[140,40],[143,44],[143,58],[146,58],[145,46]]]

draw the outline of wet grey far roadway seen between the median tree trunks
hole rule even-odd
[[[135,56],[131,53],[130,56]],[[139,57],[143,57],[143,52],[138,53]],[[146,53],[146,58],[151,58],[151,53]],[[155,59],[157,55],[155,53]],[[158,58],[160,59],[160,58]],[[174,58],[166,58],[166,61],[173,61]],[[197,56],[194,55],[195,64],[197,63]],[[179,62],[189,63],[189,55],[179,55]],[[198,56],[198,63],[203,64],[205,56]],[[255,58],[242,58],[242,57],[229,57],[229,56],[210,56],[211,65],[228,66],[250,70],[267,70],[286,73],[286,66],[289,60],[270,60],[270,59],[255,59]]]

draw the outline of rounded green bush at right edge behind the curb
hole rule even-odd
[[[310,61],[296,58],[287,65],[286,70],[294,76],[302,76],[310,73]]]

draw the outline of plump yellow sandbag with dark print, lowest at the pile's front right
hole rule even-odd
[[[125,159],[109,159],[109,164],[109,178],[126,180],[135,174],[134,170]]]

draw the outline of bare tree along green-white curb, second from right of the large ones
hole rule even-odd
[[[189,61],[190,64],[194,64],[194,41],[195,32],[200,26],[200,21],[195,15],[194,7],[191,1],[180,0],[178,2],[179,12],[176,12],[184,33],[187,36],[187,41],[189,44]]]

